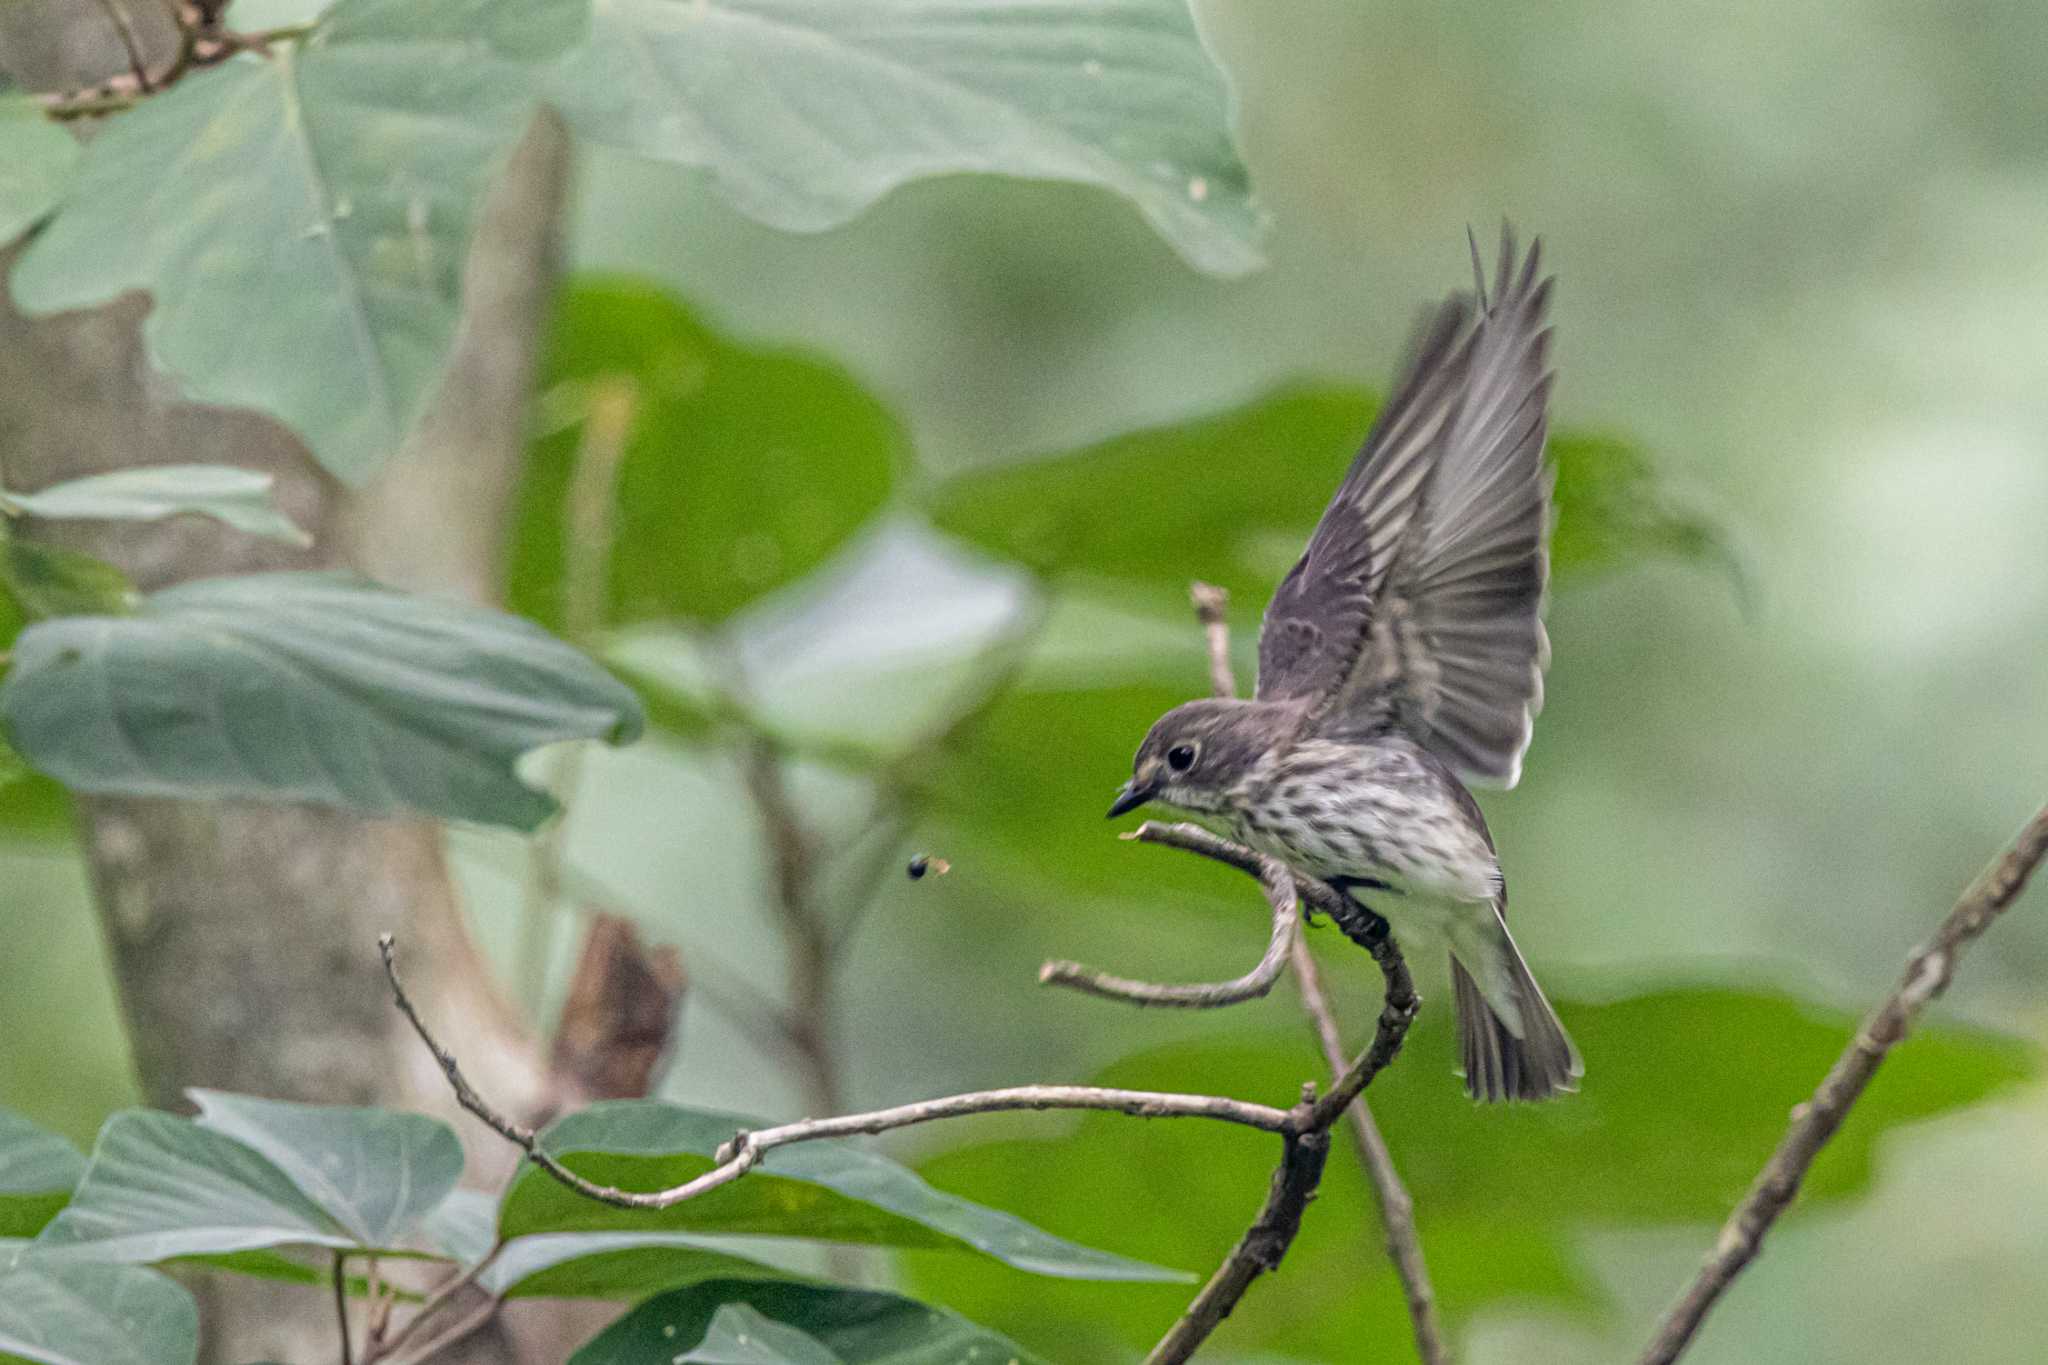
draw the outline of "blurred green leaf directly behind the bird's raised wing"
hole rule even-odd
[[[1171,596],[1229,587],[1245,620],[1266,604],[1337,489],[1378,409],[1364,389],[1292,385],[1245,407],[975,469],[928,491],[934,522],[1040,573]],[[1640,450],[1554,434],[1561,583],[1651,557],[1729,563],[1720,532],[1663,493]]]

